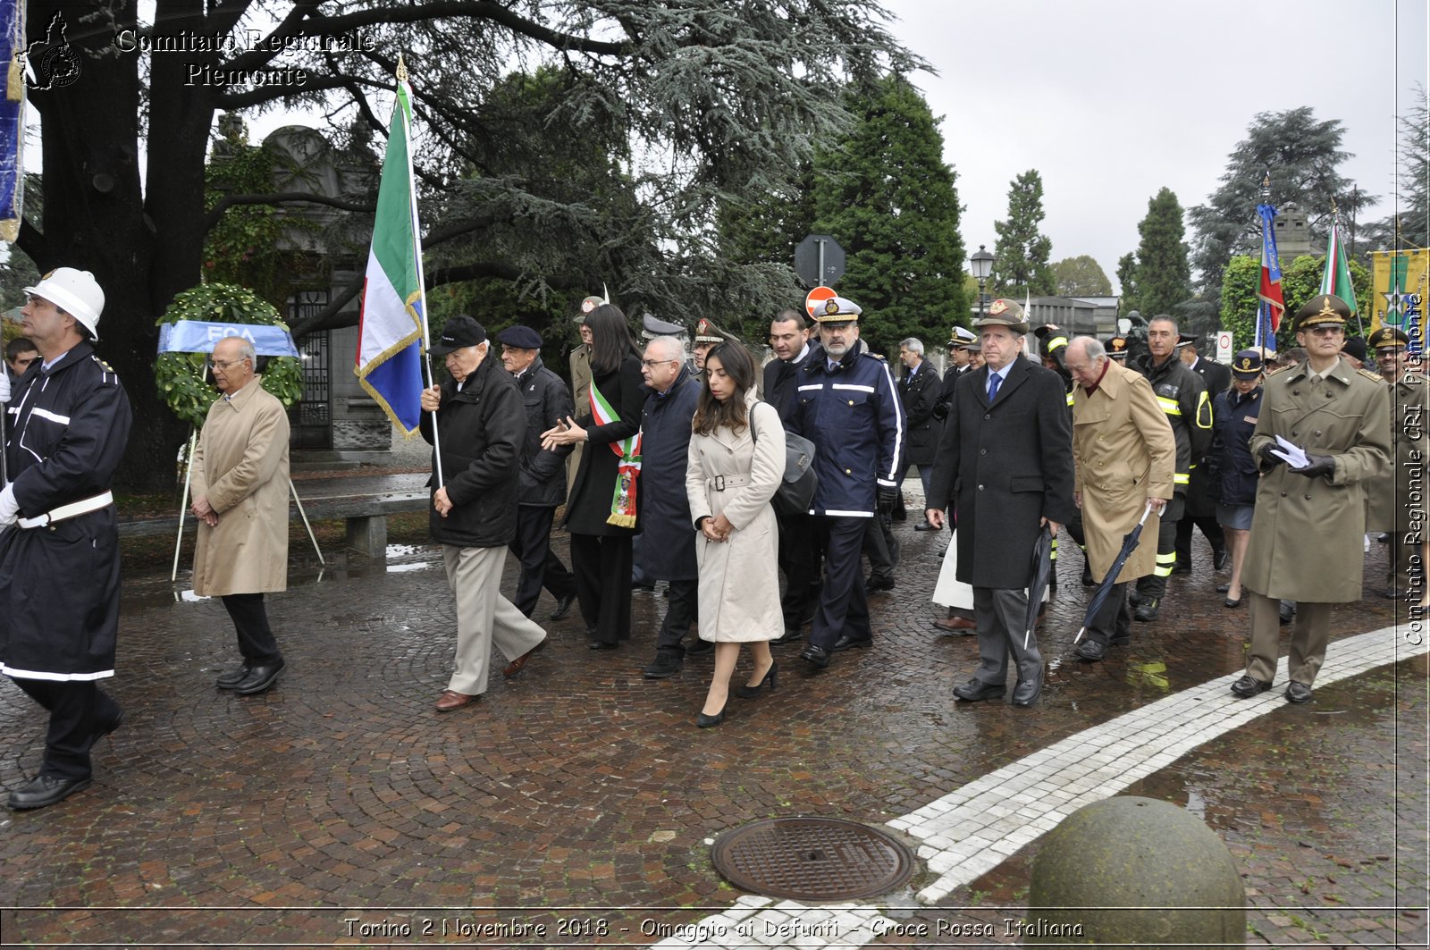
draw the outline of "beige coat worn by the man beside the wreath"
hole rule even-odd
[[[193,496],[219,512],[199,524],[200,597],[287,589],[287,412],[262,381],[209,408],[193,455]]]

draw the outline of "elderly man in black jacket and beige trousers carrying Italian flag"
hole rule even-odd
[[[433,474],[428,482],[432,539],[442,545],[456,597],[456,670],[436,701],[438,712],[470,705],[486,692],[493,642],[512,657],[506,675],[546,645],[546,631],[500,592],[506,545],[516,537],[526,411],[490,349],[480,323],[453,316],[430,349],[446,358],[452,379],[422,391],[422,438],[433,442],[442,461],[440,479]]]

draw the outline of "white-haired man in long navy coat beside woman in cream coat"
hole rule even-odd
[[[685,468],[701,383],[685,363],[685,348],[674,336],[656,336],[645,345],[641,375],[649,389],[641,415],[641,492],[645,495],[641,559],[649,579],[671,582],[665,620],[655,638],[655,660],[641,674],[664,680],[685,664],[688,651],[681,641],[696,617],[699,571]],[[698,641],[689,652],[709,650],[714,644]]]

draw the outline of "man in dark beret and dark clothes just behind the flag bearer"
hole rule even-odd
[[[502,366],[516,381],[526,411],[516,492],[516,537],[508,545],[522,562],[512,602],[522,615],[531,617],[545,587],[556,598],[551,618],[561,620],[576,599],[576,581],[551,549],[551,525],[556,506],[566,498],[565,459],[571,446],[543,449],[541,434],[571,415],[571,391],[542,363],[542,339],[536,330],[508,326],[496,335],[496,341],[502,345]]]

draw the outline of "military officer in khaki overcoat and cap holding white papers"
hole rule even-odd
[[[1251,598],[1251,651],[1231,691],[1271,688],[1280,634],[1277,598],[1297,601],[1287,665],[1290,702],[1308,702],[1326,658],[1331,604],[1360,599],[1366,488],[1390,461],[1390,391],[1341,359],[1350,308],[1323,293],[1296,313],[1307,359],[1266,381],[1251,455],[1261,465],[1241,585]],[[1291,468],[1277,436],[1306,454]],[[1314,548],[1316,557],[1306,551]]]

